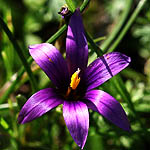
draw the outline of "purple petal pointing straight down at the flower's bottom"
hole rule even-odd
[[[89,113],[86,104],[79,101],[65,101],[63,116],[72,138],[82,149],[85,145],[89,128]]]

